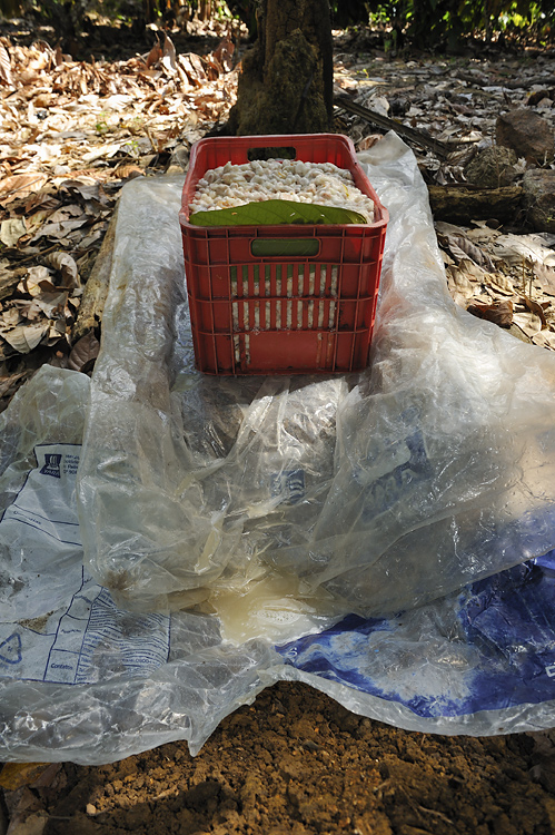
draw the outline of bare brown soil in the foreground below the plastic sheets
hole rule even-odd
[[[196,757],[172,743],[108,766],[49,766],[4,793],[9,809],[26,807],[27,823],[9,833],[547,835],[552,749],[549,733],[404,731],[281,682],[229,716]]]

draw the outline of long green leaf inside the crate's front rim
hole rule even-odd
[[[194,226],[280,226],[285,224],[366,224],[364,215],[337,206],[294,200],[261,200],[227,209],[195,212]]]

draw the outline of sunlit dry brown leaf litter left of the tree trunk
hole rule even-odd
[[[32,373],[22,357],[87,370],[99,333],[79,338],[83,286],[119,190],[182,169],[190,144],[235,102],[235,45],[177,55],[168,33],[126,61],[75,61],[44,41],[0,39],[0,390]],[[177,151],[174,157],[174,151]]]

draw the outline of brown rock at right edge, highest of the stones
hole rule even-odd
[[[519,108],[502,114],[495,126],[497,145],[513,148],[518,157],[543,165],[553,159],[555,134],[546,119]]]

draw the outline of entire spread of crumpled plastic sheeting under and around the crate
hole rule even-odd
[[[182,179],[125,188],[90,384],[46,366],[0,416],[3,759],[196,753],[280,679],[553,726],[555,357],[452,303],[406,146],[359,158],[390,224],[358,375],[195,372]]]

